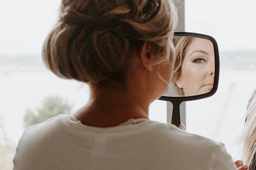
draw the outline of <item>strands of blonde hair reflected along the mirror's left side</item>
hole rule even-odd
[[[181,76],[182,63],[186,56],[187,47],[193,41],[193,37],[174,37],[174,48],[176,59],[174,62],[174,72],[172,77],[172,83],[174,84],[174,90],[180,96],[184,96],[183,88],[177,86],[176,82]]]

